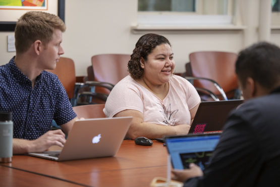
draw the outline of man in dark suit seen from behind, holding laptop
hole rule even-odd
[[[259,42],[236,61],[245,104],[228,118],[209,165],[173,170],[184,186],[279,186],[280,49]]]

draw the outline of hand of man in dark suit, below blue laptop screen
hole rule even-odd
[[[200,167],[198,167],[194,163],[190,164],[190,169],[184,169],[184,170],[173,169],[171,172],[174,174],[172,179],[178,180],[181,182],[184,182],[187,179],[192,178],[192,177],[197,177],[197,176],[203,175],[203,172],[200,169]]]

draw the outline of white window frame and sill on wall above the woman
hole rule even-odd
[[[227,15],[202,15],[203,3],[196,1],[195,12],[143,12],[138,11],[134,30],[186,30],[186,29],[244,29],[236,24],[235,0],[228,0]],[[218,2],[220,0],[216,0]],[[205,6],[205,5],[204,5]]]

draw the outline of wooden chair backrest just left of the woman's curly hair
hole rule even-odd
[[[130,55],[126,54],[103,54],[91,58],[91,63],[96,81],[117,84],[129,74],[128,61]]]

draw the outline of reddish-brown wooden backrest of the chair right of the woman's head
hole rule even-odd
[[[194,77],[210,78],[216,81],[227,93],[238,88],[237,75],[235,73],[236,53],[204,51],[190,54],[190,65]],[[214,94],[219,91],[209,81],[194,80],[195,87],[207,88]],[[231,98],[231,96],[229,96]]]

